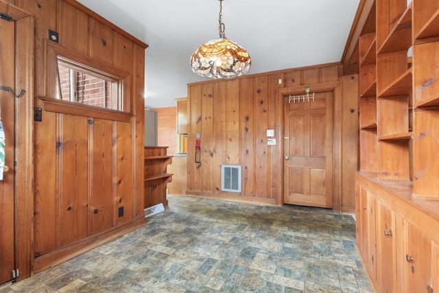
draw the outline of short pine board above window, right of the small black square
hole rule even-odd
[[[88,15],[69,3],[58,1],[58,39],[64,45],[82,54],[88,53]]]

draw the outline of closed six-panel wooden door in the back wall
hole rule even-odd
[[[332,208],[333,92],[285,99],[285,204]]]

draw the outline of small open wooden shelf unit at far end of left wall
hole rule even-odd
[[[145,209],[156,204],[167,207],[166,186],[172,174],[167,173],[167,165],[172,156],[167,156],[167,147],[145,147],[144,152]]]

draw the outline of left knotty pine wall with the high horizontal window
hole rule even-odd
[[[147,45],[74,0],[12,2],[35,19],[34,106],[43,109],[43,121],[34,122],[34,162],[29,163],[34,166],[34,233],[28,235],[33,270],[23,278],[145,224]],[[69,104],[47,106],[56,93],[49,30],[58,32],[58,51],[123,73],[126,113],[94,117],[93,109],[72,114]]]

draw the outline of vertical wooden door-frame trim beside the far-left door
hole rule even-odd
[[[9,13],[23,14],[10,5]],[[34,16],[27,14],[16,26],[16,86],[26,93],[16,99],[15,251],[18,280],[32,273],[34,243]]]

